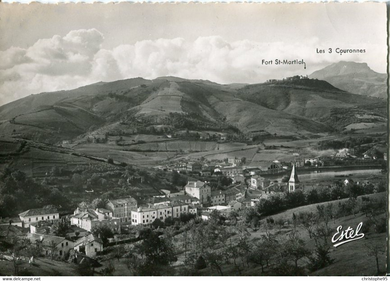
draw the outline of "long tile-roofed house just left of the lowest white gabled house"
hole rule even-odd
[[[42,253],[45,255],[51,255],[51,251],[55,251],[54,255],[63,257],[74,246],[74,242],[65,237],[28,233],[26,238],[30,239],[32,244],[39,245]]]

